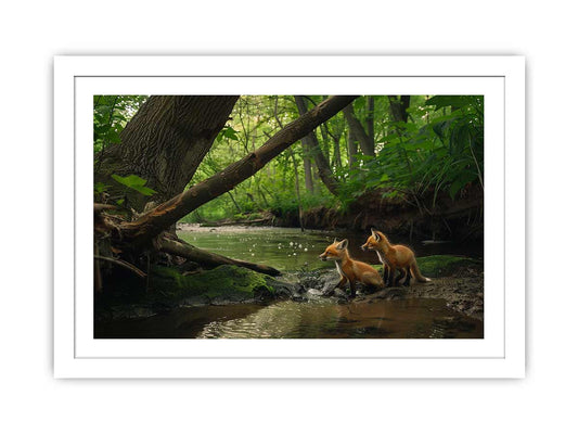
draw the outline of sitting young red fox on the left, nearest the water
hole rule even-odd
[[[333,244],[330,244],[325,252],[319,255],[321,260],[335,260],[335,266],[342,277],[337,286],[343,288],[349,281],[351,297],[356,296],[356,282],[361,282],[368,286],[384,288],[380,273],[372,266],[351,259],[347,251],[348,244],[347,240],[334,240]]]

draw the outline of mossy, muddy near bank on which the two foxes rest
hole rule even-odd
[[[358,295],[354,299],[349,299],[345,291],[335,289],[339,280],[335,268],[291,271],[274,279],[235,266],[195,272],[155,267],[149,291],[119,292],[99,297],[95,301],[95,321],[146,318],[187,307],[270,305],[278,301],[375,304],[384,299],[414,298],[444,299],[446,306],[457,312],[477,320],[484,319],[481,261],[433,255],[420,257],[418,263],[432,282],[376,292],[358,285]]]

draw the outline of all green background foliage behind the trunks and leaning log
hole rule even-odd
[[[325,98],[308,95],[305,100],[312,107]],[[143,95],[94,97],[95,162],[106,146],[120,141],[123,128],[145,100]],[[374,156],[348,154],[349,126],[343,113],[313,131],[338,181],[337,197],[317,176],[313,155],[297,142],[253,177],[183,220],[246,219],[261,212],[295,216],[299,208],[345,208],[365,193],[403,199],[433,208],[440,194],[455,200],[471,186],[484,187],[483,97],[412,95],[407,123],[394,120],[388,95],[372,95],[372,112],[368,102],[368,97],[360,97],[352,107],[367,131],[368,122],[373,118]],[[241,97],[231,119],[218,133],[190,184],[201,182],[245,157],[297,117],[293,95]],[[306,161],[312,166],[312,188],[309,186],[309,189],[305,184]],[[136,175],[114,176],[114,179],[144,195],[155,193]],[[94,193],[106,193],[110,188],[95,184]]]

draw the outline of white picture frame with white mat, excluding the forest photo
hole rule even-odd
[[[93,94],[484,94],[484,339],[94,340]],[[56,378],[525,375],[524,58],[56,56],[54,202]]]

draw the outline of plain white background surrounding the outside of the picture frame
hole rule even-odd
[[[566,271],[576,250],[576,39],[571,2],[563,1],[4,4],[0,429],[570,431],[578,385],[577,284]],[[52,56],[132,53],[526,55],[527,378],[53,380]]]

